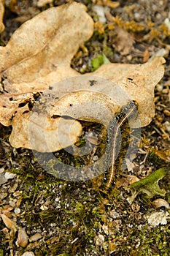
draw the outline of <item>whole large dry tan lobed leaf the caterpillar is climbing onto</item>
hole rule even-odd
[[[140,118],[140,121],[132,118],[131,127],[150,123],[154,116],[154,87],[163,77],[164,59],[155,57],[139,65],[104,64],[96,72],[80,75],[70,67],[70,62],[79,46],[92,34],[93,20],[85,12],[85,6],[73,2],[36,15],[15,31],[6,47],[0,47],[0,122],[12,125],[12,146],[57,151],[61,148],[59,144],[62,147],[70,144],[55,138],[55,146],[51,145],[58,135],[55,129],[63,120],[53,116],[65,115],[107,125],[129,100],[138,103]],[[58,83],[66,78],[70,79]],[[31,110],[37,95],[43,93],[42,99],[46,100],[47,92],[52,97],[51,102],[44,104],[45,115],[40,108],[33,111],[39,124],[45,121],[45,131],[40,132],[39,140],[44,134],[46,136],[43,145],[37,146],[38,127],[29,118],[34,117]],[[70,127],[70,120],[67,121]],[[70,134],[69,142],[74,143],[81,126],[74,121],[71,127],[75,132]],[[31,133],[33,128],[35,134]],[[39,130],[43,130],[42,127]],[[61,132],[59,138],[62,136]]]

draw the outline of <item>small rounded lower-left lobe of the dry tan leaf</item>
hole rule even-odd
[[[77,141],[82,132],[80,122],[50,118],[42,114],[25,113],[12,120],[9,142],[15,148],[31,148],[39,152],[53,152]]]

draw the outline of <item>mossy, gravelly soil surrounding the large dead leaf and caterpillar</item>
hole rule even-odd
[[[51,1],[43,7],[37,7],[37,2],[4,1],[1,46],[26,20],[70,1]],[[0,212],[8,218],[0,218],[0,255],[170,255],[169,173],[159,181],[164,196],[150,198],[142,192],[130,204],[131,190],[125,189],[128,176],[144,178],[170,166],[170,1],[120,0],[117,7],[116,1],[109,0],[78,2],[85,4],[96,23],[93,37],[72,59],[78,72],[93,71],[93,59],[102,53],[113,63],[142,64],[158,50],[166,50],[165,74],[155,87],[155,118],[142,128],[132,167],[119,172],[109,192],[103,189],[104,176],[86,182],[51,176],[31,150],[10,146],[12,128],[0,124]],[[96,4],[107,7],[104,23],[98,22]],[[115,17],[112,24],[111,16]],[[122,42],[120,28],[133,43]],[[88,125],[101,129],[97,124]],[[63,150],[59,156],[68,157]],[[3,181],[4,173],[7,180]]]

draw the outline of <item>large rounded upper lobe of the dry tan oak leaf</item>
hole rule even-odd
[[[4,85],[31,82],[56,72],[58,66],[71,69],[72,57],[92,34],[93,20],[82,4],[73,2],[39,13],[0,48]]]

